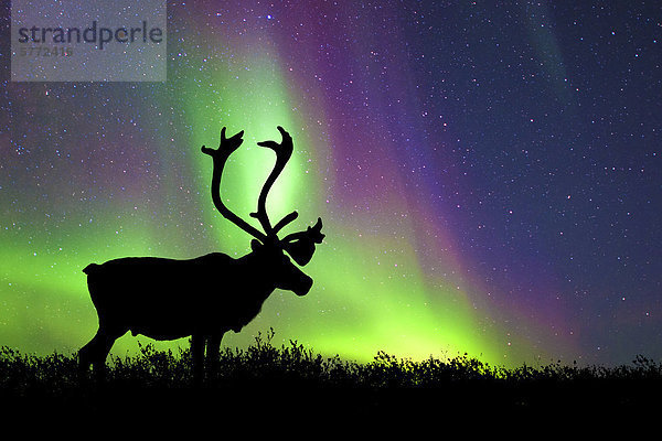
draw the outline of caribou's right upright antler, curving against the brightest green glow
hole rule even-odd
[[[258,146],[269,148],[276,152],[276,164],[274,165],[274,170],[271,170],[269,178],[267,178],[267,181],[259,193],[259,198],[257,200],[257,213],[250,213],[250,216],[259,220],[267,236],[275,240],[278,240],[278,232],[287,224],[295,220],[299,215],[297,212],[292,212],[280,219],[275,227],[271,227],[269,215],[267,214],[267,195],[271,190],[271,185],[274,185],[274,182],[276,182],[276,179],[278,179],[282,172],[282,169],[285,169],[285,165],[292,155],[293,150],[292,137],[290,137],[290,135],[282,127],[278,126],[277,128],[282,136],[282,141],[280,141],[280,143],[276,141],[261,141],[257,143]]]

